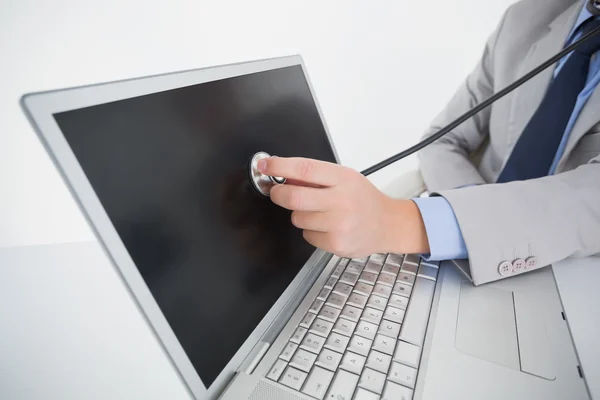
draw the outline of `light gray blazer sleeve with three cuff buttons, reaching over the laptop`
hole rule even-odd
[[[600,254],[600,156],[557,175],[437,194],[456,214],[475,285]],[[535,266],[500,273],[502,262],[529,257]]]

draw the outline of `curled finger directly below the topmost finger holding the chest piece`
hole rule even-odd
[[[328,189],[292,185],[273,186],[271,201],[293,211],[328,211],[334,202]]]

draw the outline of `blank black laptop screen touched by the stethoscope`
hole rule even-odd
[[[314,251],[247,170],[258,151],[335,162],[302,68],[54,118],[210,386]]]

